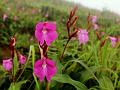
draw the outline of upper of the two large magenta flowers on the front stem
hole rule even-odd
[[[36,25],[35,36],[40,45],[43,45],[44,42],[50,45],[57,38],[56,23],[39,22]]]

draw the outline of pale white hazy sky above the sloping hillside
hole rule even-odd
[[[103,8],[120,15],[120,0],[66,0],[81,3],[84,6],[103,10]]]

